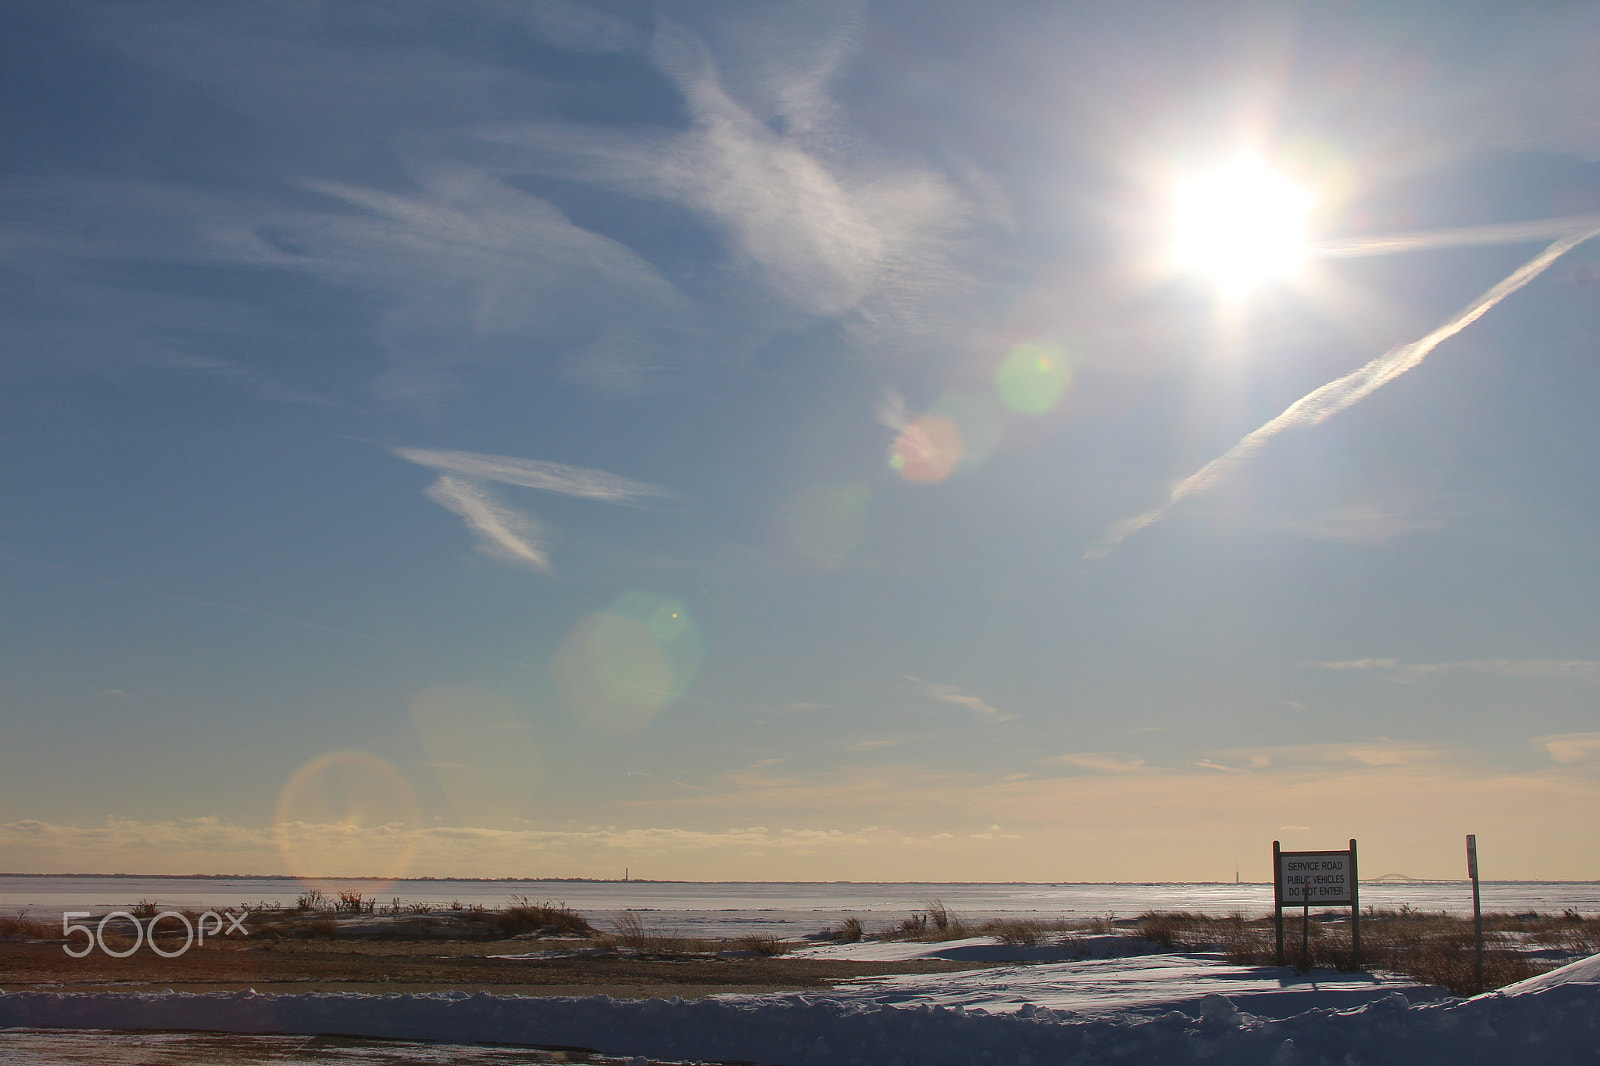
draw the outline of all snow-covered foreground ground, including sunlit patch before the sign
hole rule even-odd
[[[1029,949],[973,940],[811,951],[861,952],[858,957],[888,951],[957,952],[962,957],[963,951],[1014,954]],[[640,1056],[635,1061],[784,1066],[1600,1063],[1600,956],[1469,1000],[1435,996],[1400,980],[1298,976],[1288,970],[1232,967],[1205,954],[1085,960],[1035,956],[1032,962],[1000,968],[853,981],[827,992],[717,996],[690,1002],[464,992],[14,992],[0,994],[0,1028],[339,1032],[587,1047],[622,1058]],[[78,1061],[48,1058],[48,1034],[29,1034],[27,1040],[32,1058],[26,1061]],[[45,1052],[40,1052],[40,1040],[46,1044]],[[397,1047],[390,1045],[390,1052]],[[437,1048],[416,1050],[418,1058],[386,1061],[442,1061],[435,1056]],[[147,1060],[112,1055],[94,1061]],[[325,1055],[318,1061],[341,1060]],[[450,1061],[469,1060],[456,1055]]]

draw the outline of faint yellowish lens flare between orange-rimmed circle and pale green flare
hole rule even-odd
[[[539,749],[509,703],[477,688],[429,688],[411,701],[411,727],[458,824],[496,826],[533,813]]]

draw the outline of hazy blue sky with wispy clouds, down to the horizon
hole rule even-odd
[[[0,869],[1600,879],[1595,85],[1589,3],[11,0]]]

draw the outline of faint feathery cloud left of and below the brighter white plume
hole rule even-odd
[[[469,163],[410,170],[419,189],[408,192],[306,182],[355,213],[278,224],[304,267],[390,298],[378,322],[384,399],[448,397],[456,365],[515,362],[528,343],[565,352],[589,384],[629,389],[688,331],[677,290],[621,242]]]

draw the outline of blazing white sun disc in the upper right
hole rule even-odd
[[[1240,155],[1173,190],[1171,261],[1229,298],[1294,274],[1306,259],[1310,194]]]

